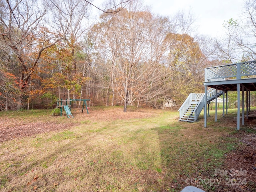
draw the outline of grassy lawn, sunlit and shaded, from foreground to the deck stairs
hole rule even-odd
[[[49,118],[49,113],[8,116],[36,120]],[[58,123],[69,121],[57,118]],[[223,137],[236,127],[209,123],[204,128],[202,118],[193,124],[177,118],[178,112],[164,110],[150,118],[83,120],[68,130],[2,142],[0,191],[179,192],[187,179],[213,177],[225,154],[236,148],[237,138]]]

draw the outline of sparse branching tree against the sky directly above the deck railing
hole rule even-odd
[[[224,21],[225,35],[214,43],[214,58],[228,63],[256,59],[256,2],[246,0],[243,18]]]

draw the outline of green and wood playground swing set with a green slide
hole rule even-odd
[[[71,102],[72,101],[83,101],[82,112],[84,112],[84,106],[85,106],[87,114],[89,114],[89,111],[88,111],[89,107],[87,106],[87,101],[90,101],[90,99],[69,99],[69,100],[68,99],[66,99],[66,100],[61,99],[61,100],[57,100],[57,106],[55,108],[55,109],[60,108],[60,116],[62,116],[62,113],[65,110],[68,118],[74,118],[74,116],[71,113]],[[69,104],[68,104],[68,102],[69,102]],[[62,108],[64,110],[62,110]]]

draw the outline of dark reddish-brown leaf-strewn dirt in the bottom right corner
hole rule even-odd
[[[226,154],[223,170],[217,173],[223,181],[217,191],[255,192],[256,134],[239,132],[227,137],[240,138],[237,142],[239,147]]]

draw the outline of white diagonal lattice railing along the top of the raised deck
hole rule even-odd
[[[242,62],[223,66],[205,68],[205,82],[225,80],[225,78],[241,79],[242,76],[256,75],[256,61]]]

